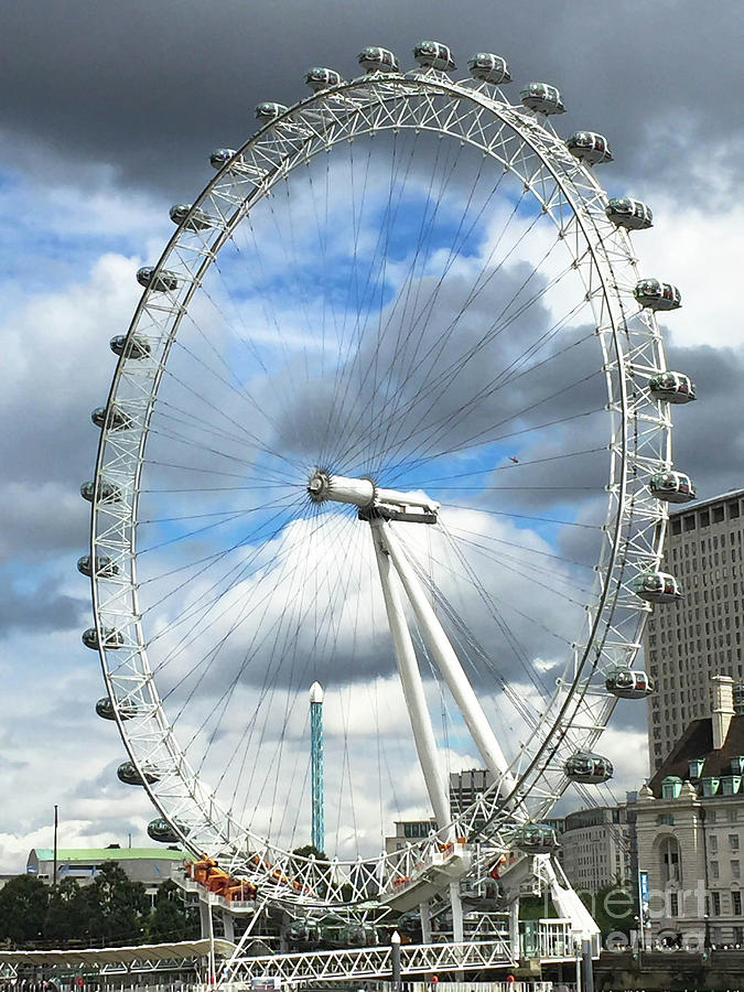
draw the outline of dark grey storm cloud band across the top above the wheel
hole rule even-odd
[[[743,17],[737,0],[714,12],[694,0],[439,10],[423,0],[26,0],[0,15],[0,127],[26,168],[46,169],[46,147],[57,168],[107,162],[128,183],[183,197],[203,182],[213,147],[235,145],[252,129],[257,103],[308,91],[310,65],[348,77],[363,45],[387,44],[410,66],[411,46],[425,35],[453,47],[463,74],[476,48],[504,54],[513,99],[529,79],[561,86],[571,111],[561,131],[606,132],[615,180],[661,174],[689,191],[691,157],[742,147]]]

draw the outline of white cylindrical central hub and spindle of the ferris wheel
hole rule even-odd
[[[410,520],[419,524],[435,524],[439,503],[425,493],[400,493],[398,489],[381,489],[370,478],[349,478],[332,475],[325,468],[313,468],[308,479],[308,495],[313,503],[346,503],[359,508],[359,516],[369,518],[368,513],[388,520]]]

